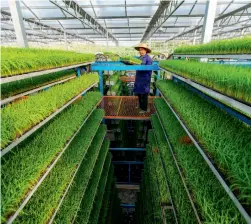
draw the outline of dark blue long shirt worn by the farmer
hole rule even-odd
[[[140,57],[141,65],[151,65],[152,59],[148,54]],[[133,91],[137,94],[145,94],[150,92],[152,71],[136,71],[136,80]]]

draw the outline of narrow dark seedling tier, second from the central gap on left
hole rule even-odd
[[[110,165],[110,169],[108,172],[108,177],[105,185],[100,185],[98,188],[97,195],[94,200],[94,205],[91,211],[90,219],[88,221],[89,224],[97,224],[100,216],[101,206],[103,201],[105,200],[105,192],[108,186],[111,187],[112,178],[114,175],[113,166]]]

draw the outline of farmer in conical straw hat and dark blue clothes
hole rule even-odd
[[[146,44],[141,43],[137,47],[135,47],[135,49],[139,51],[140,60],[142,61],[141,65],[152,64],[152,59],[148,55],[148,53],[151,53],[151,49]],[[139,108],[140,108],[139,113],[147,112],[151,74],[152,71],[136,71],[136,80],[133,91],[139,98]]]

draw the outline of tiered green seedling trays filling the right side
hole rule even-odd
[[[241,46],[245,41],[249,45]],[[231,45],[231,51],[226,50],[229,43],[237,42],[226,41],[222,45],[224,52],[218,53],[250,53],[250,39],[239,40],[237,45]],[[198,48],[215,46],[208,44]],[[251,223],[251,129],[247,122],[251,118],[251,70],[181,60],[161,61],[160,65],[172,73],[174,80],[157,82],[163,98],[154,100],[157,117],[152,121],[154,129],[162,132],[163,141],[166,139],[168,143],[163,161],[174,163],[173,168],[167,164],[166,170],[176,167],[182,182],[179,191],[175,191],[179,185],[172,188],[170,182],[178,219],[185,222],[189,217],[188,223]],[[193,88],[192,84],[210,92],[201,95],[194,91],[196,85]],[[231,101],[214,98],[212,92],[244,107],[240,109]],[[228,109],[205,96],[216,99]],[[231,113],[232,109],[246,119]],[[172,180],[175,180],[174,175]],[[177,199],[180,195],[184,195],[186,203]]]

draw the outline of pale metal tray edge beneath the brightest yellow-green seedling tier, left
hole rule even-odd
[[[94,87],[97,83],[94,83],[93,85],[89,86],[87,89],[82,91],[80,94],[75,96],[73,99],[68,101],[64,106],[57,109],[53,114],[51,114],[49,117],[45,118],[42,122],[31,128],[29,131],[27,131],[25,134],[23,134],[20,138],[17,138],[14,140],[10,145],[8,145],[6,148],[4,148],[1,151],[1,157],[10,152],[15,146],[17,146],[19,143],[21,143],[23,140],[25,140],[27,137],[29,137],[31,134],[33,134],[35,131],[37,131],[39,128],[41,128],[43,125],[45,125],[48,121],[50,121],[52,118],[54,118],[57,114],[59,114],[61,111],[63,111],[66,107],[68,107],[70,104],[72,104],[78,97],[82,96],[84,93],[86,93],[89,89]]]

